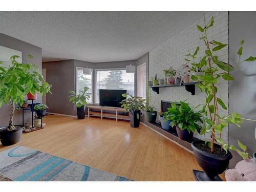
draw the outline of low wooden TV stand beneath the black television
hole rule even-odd
[[[118,119],[122,120],[130,120],[129,115],[121,115],[120,113],[125,113],[125,110],[123,108],[115,108],[112,106],[87,106],[88,108],[88,117],[90,116],[96,116],[103,119],[103,117],[106,118],[115,118],[116,121]],[[94,111],[91,111],[94,110]]]

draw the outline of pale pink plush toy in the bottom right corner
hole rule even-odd
[[[227,181],[256,181],[256,164],[254,159],[239,161],[236,167],[225,172]]]

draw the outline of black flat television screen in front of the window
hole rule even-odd
[[[126,90],[99,90],[99,105],[100,106],[114,106],[120,108],[120,102],[124,99],[122,94],[126,93]]]

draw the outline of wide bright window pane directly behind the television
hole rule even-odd
[[[127,90],[134,96],[134,74],[126,70],[97,70],[95,80],[96,103],[99,103],[100,89]]]

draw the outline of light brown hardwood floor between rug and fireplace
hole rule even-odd
[[[50,115],[45,129],[16,145],[59,156],[136,181],[195,181],[193,154],[146,126],[111,119]],[[0,146],[0,151],[12,146]]]

